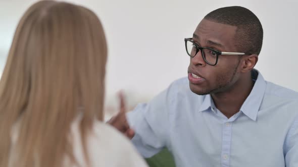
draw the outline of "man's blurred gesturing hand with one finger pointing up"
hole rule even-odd
[[[132,139],[132,137],[134,136],[134,130],[129,127],[129,124],[127,122],[124,96],[121,92],[119,93],[119,99],[120,99],[120,112],[116,116],[112,117],[108,121],[108,123],[114,126],[116,129],[118,129],[129,139]]]

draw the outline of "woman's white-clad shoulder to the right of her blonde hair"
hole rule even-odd
[[[95,121],[87,141],[92,166],[147,166],[129,139],[109,124]]]

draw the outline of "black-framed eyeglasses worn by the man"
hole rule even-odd
[[[190,57],[194,57],[201,50],[204,61],[209,65],[216,65],[219,55],[244,55],[252,53],[221,52],[209,47],[201,47],[192,41],[192,38],[184,38],[186,52]]]

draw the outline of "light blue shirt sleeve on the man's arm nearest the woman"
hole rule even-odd
[[[132,112],[127,113],[129,125],[135,131],[131,141],[145,158],[155,155],[167,145],[170,103],[168,94],[169,89],[151,102],[139,104]]]

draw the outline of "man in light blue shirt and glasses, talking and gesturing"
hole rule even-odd
[[[298,93],[254,69],[262,41],[250,10],[209,13],[185,39],[188,79],[110,124],[144,157],[167,147],[177,166],[298,166]]]

